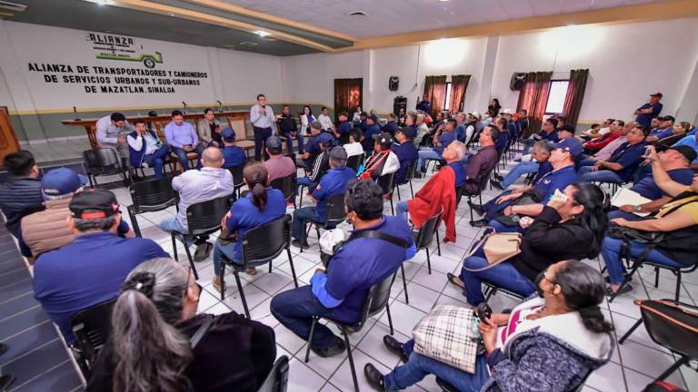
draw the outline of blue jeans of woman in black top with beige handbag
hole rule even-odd
[[[475,254],[464,260],[464,267],[471,270],[483,268],[490,265],[484,258],[483,250],[480,249]],[[495,287],[512,291],[520,294],[523,297],[528,297],[535,292],[535,285],[531,280],[524,277],[519,270],[516,270],[514,265],[509,261],[503,261],[489,270],[480,272],[471,272],[461,270],[459,276],[465,284],[463,294],[468,303],[473,306],[478,306],[484,302],[483,290],[481,284],[483,281],[491,283]]]

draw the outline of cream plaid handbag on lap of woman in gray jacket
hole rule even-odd
[[[414,327],[414,351],[474,374],[479,321],[474,309],[437,305]]]

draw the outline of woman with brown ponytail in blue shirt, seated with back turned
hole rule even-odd
[[[277,220],[286,213],[284,193],[269,187],[269,174],[262,162],[250,163],[244,167],[243,181],[250,191],[234,202],[221,220],[221,227],[226,231],[225,238],[219,237],[214,246],[214,288],[221,291],[224,281],[220,276],[221,257],[243,264],[244,233],[256,227]],[[233,234],[234,233],[234,234]],[[230,238],[234,235],[234,239]],[[249,266],[247,271],[255,275],[257,270]]]

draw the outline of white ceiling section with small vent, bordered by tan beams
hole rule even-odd
[[[357,37],[560,15],[666,0],[224,0]],[[364,11],[368,16],[349,16]]]

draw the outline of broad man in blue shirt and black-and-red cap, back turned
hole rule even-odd
[[[141,262],[170,256],[153,240],[116,235],[121,214],[111,191],[75,193],[69,209],[67,225],[75,240],[36,260],[34,297],[72,345],[70,321],[76,313],[114,299],[128,273]]]

